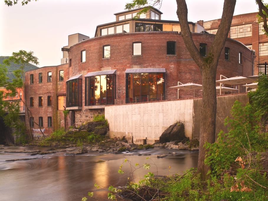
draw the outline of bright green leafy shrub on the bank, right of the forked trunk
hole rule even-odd
[[[229,169],[234,160],[244,155],[246,150],[263,151],[267,148],[267,134],[259,134],[258,123],[258,115],[249,103],[242,107],[239,101],[235,101],[231,118],[227,117],[224,123],[225,126],[230,125],[229,132],[223,134],[221,131],[218,142],[205,144],[208,149],[205,164],[211,166],[213,174]]]

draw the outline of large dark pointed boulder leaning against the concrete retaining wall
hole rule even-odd
[[[176,141],[174,144],[185,139],[184,124],[182,121],[176,122],[169,126],[160,136],[160,143]]]

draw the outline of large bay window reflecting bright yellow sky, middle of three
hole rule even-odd
[[[116,98],[115,75],[98,75],[85,79],[85,105],[112,105]]]

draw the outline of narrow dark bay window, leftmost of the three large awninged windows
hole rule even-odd
[[[66,82],[66,107],[82,107],[82,79]]]

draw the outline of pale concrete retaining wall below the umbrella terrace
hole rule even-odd
[[[221,129],[227,132],[224,119],[230,114],[236,100],[243,105],[249,102],[246,94],[217,97],[216,139]],[[199,139],[201,105],[202,99],[198,98],[106,106],[108,134],[110,137],[126,136],[128,141],[133,140],[135,144],[142,144],[143,139],[147,138],[147,144],[153,144],[159,141],[168,126],[180,120],[185,125],[185,136]]]

